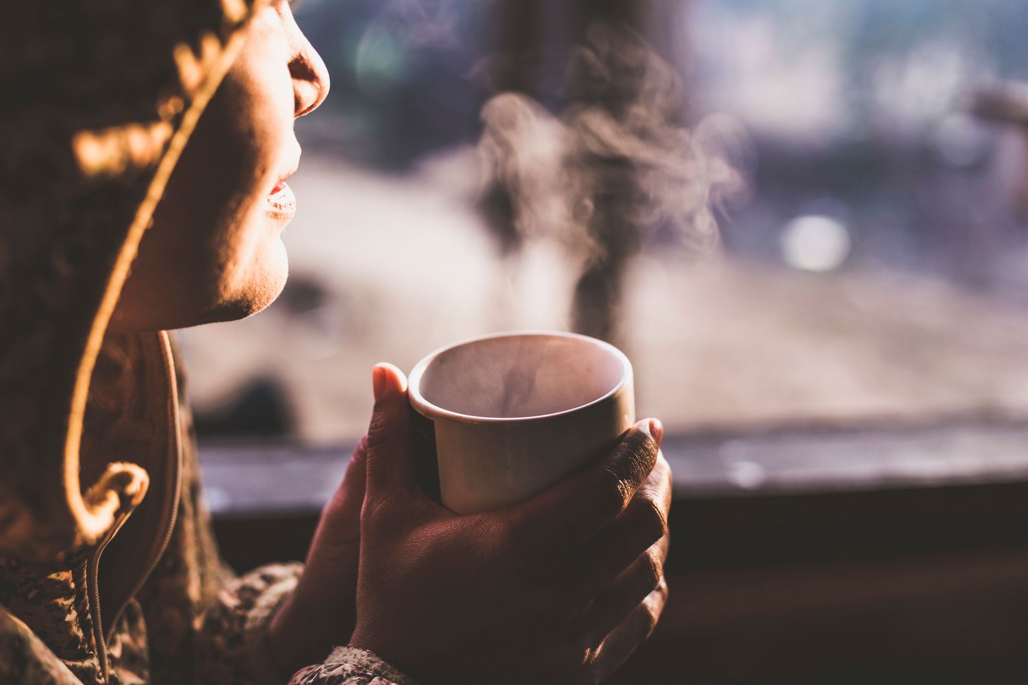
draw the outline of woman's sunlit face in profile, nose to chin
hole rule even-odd
[[[176,165],[144,234],[111,330],[156,331],[248,316],[288,274],[281,234],[296,211],[296,117],[328,93],[325,64],[285,0],[246,43]]]

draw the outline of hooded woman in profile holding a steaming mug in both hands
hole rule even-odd
[[[655,420],[455,517],[418,489],[406,381],[379,365],[305,567],[226,572],[166,331],[281,292],[293,120],[325,67],[285,0],[42,5],[0,29],[0,683],[612,673],[666,598]]]

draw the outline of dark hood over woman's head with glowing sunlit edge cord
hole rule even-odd
[[[94,544],[146,492],[117,455],[80,482],[89,379],[164,185],[264,4],[19,2],[0,24],[0,555]]]

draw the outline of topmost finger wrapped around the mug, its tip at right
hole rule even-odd
[[[602,530],[653,470],[661,430],[656,419],[639,421],[598,463],[506,509],[515,537],[530,540],[535,551],[548,551],[578,544]]]

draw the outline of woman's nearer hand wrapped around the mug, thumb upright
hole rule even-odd
[[[357,626],[420,682],[596,683],[649,637],[667,586],[660,423],[523,504],[457,517],[418,487],[406,380],[374,371]]]

